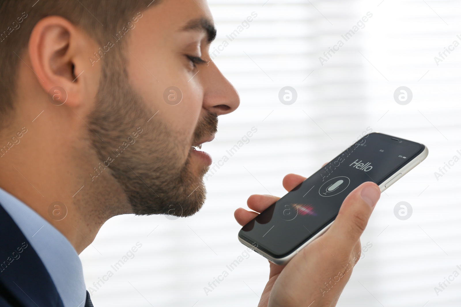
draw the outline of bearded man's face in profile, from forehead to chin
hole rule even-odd
[[[208,55],[204,1],[164,0],[139,16],[122,53],[101,58],[89,135],[136,214],[188,216],[205,200],[212,163],[192,146],[214,138],[217,116],[239,98]]]

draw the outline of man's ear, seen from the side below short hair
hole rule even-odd
[[[29,57],[38,83],[55,105],[76,109],[93,101],[99,85],[99,65],[89,57],[95,41],[63,17],[41,19],[32,30]]]

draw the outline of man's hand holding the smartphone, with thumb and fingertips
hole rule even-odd
[[[306,178],[288,174],[284,188],[291,191]],[[381,195],[378,185],[365,182],[344,200],[336,220],[321,237],[302,249],[286,266],[270,262],[269,281],[259,307],[332,307],[360,258],[360,236]],[[279,197],[251,195],[248,208],[262,212]],[[239,208],[234,216],[245,225],[256,212]]]

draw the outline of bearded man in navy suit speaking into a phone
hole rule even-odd
[[[32,2],[0,5],[0,305],[92,306],[78,254],[115,215],[195,214],[211,164],[199,149],[239,98],[210,61],[205,0]],[[271,264],[260,306],[334,306],[379,195],[359,186],[319,240]]]

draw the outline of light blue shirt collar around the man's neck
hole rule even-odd
[[[29,206],[0,188],[0,204],[40,257],[65,307],[83,307],[86,299],[82,262],[72,244]]]

